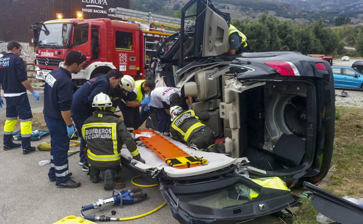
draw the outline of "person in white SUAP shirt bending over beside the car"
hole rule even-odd
[[[146,121],[148,117],[150,117],[150,114],[156,110],[158,126],[156,129],[154,127],[152,129],[163,133],[166,122],[169,119],[170,105],[172,104],[181,106],[183,104],[183,99],[180,97],[180,94],[180,91],[174,87],[157,87],[152,90],[150,94],[150,107],[148,109],[141,109],[138,128],[144,123],[144,121]]]

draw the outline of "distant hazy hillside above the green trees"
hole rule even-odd
[[[188,0],[131,0],[131,9],[150,11],[165,16],[174,16]],[[309,24],[323,19],[325,23],[336,25],[341,17],[342,24],[358,24],[363,21],[363,0],[213,0],[221,11],[231,13],[232,19],[255,20],[262,13],[273,15],[279,20],[291,20],[295,24]],[[339,10],[339,11],[338,11]]]

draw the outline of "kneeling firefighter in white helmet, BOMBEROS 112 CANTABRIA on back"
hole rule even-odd
[[[103,188],[113,190],[113,180],[122,182],[121,148],[126,144],[132,158],[145,163],[125,124],[117,115],[110,112],[112,102],[107,94],[97,94],[92,103],[96,109],[82,126],[86,141],[89,175],[93,183],[98,183],[103,171]]]

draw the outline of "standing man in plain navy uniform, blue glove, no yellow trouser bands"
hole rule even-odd
[[[51,71],[44,85],[44,119],[50,133],[49,180],[56,181],[58,188],[76,188],[81,183],[70,179],[68,172],[69,140],[74,133],[70,108],[72,105],[72,73],[77,74],[86,56],[77,50],[66,55],[64,65]]]

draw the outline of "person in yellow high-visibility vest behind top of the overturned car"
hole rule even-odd
[[[247,37],[233,25],[229,25],[228,45],[225,54],[240,54],[250,52]]]

